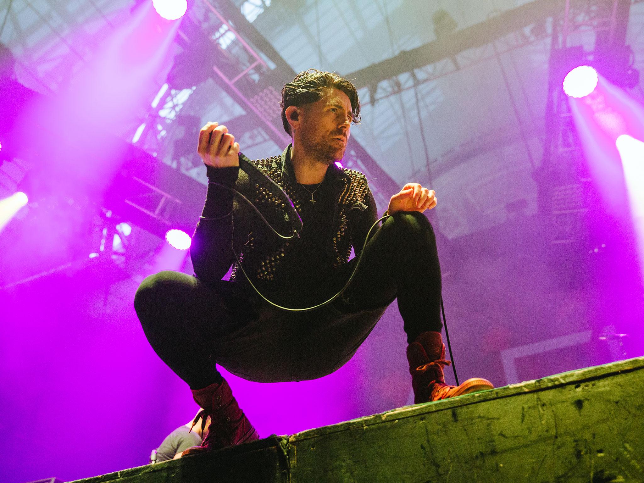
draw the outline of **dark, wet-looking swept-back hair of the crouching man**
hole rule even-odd
[[[287,134],[292,135],[289,121],[286,118],[286,108],[316,102],[322,99],[325,91],[329,88],[341,90],[348,96],[354,117],[352,122],[359,124],[360,99],[358,99],[358,91],[354,84],[333,72],[308,69],[296,75],[295,79],[282,89],[282,100],[279,105],[282,109],[282,124],[284,124]]]

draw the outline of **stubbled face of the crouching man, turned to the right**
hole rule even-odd
[[[322,99],[303,106],[300,139],[320,162],[332,164],[345,156],[353,113],[348,95],[328,89]]]

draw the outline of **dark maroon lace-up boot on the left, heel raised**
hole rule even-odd
[[[223,379],[221,384],[211,384],[193,390],[194,401],[202,408],[193,421],[193,426],[202,419],[202,431],[210,417],[210,427],[201,446],[188,448],[181,456],[196,455],[206,451],[221,450],[245,442],[260,439],[251,421],[240,409],[232,395],[231,386]]]

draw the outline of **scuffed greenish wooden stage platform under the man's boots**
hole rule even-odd
[[[644,357],[84,483],[644,482]]]

